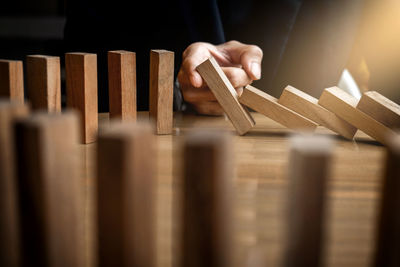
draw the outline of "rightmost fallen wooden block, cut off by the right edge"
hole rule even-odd
[[[400,129],[400,105],[378,92],[365,92],[357,108],[391,129]]]

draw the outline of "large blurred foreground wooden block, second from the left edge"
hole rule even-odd
[[[23,266],[85,266],[78,121],[39,112],[15,125]]]

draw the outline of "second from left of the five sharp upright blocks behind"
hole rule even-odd
[[[27,56],[26,70],[27,94],[32,109],[61,112],[60,58]]]

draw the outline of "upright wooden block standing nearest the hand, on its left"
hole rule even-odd
[[[156,121],[157,134],[171,134],[174,97],[174,52],[150,52],[150,117]]]

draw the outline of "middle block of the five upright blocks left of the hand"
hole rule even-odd
[[[96,54],[66,53],[65,72],[67,107],[81,114],[82,142],[95,142],[98,128]]]

